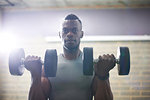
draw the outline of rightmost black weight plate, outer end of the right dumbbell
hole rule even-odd
[[[119,65],[118,72],[119,75],[128,75],[130,72],[130,52],[128,47],[120,47]]]

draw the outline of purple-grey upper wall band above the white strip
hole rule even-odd
[[[54,35],[67,14],[83,22],[85,35],[150,35],[150,8],[4,11],[4,30],[17,35]]]

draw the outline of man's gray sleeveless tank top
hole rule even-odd
[[[92,100],[93,76],[83,75],[82,53],[75,60],[58,56],[56,77],[49,77],[52,85],[50,100]]]

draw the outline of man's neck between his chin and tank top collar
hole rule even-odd
[[[66,59],[68,59],[68,60],[73,60],[73,59],[78,58],[79,55],[80,55],[80,53],[81,53],[79,47],[78,47],[76,50],[72,51],[72,52],[69,51],[69,50],[67,50],[66,48],[63,48],[63,51],[64,51],[63,56],[64,56]]]

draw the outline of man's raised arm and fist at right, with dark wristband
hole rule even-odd
[[[115,57],[111,55],[99,56],[94,64],[95,76],[92,83],[94,100],[113,100],[109,83],[109,71],[115,66]]]

